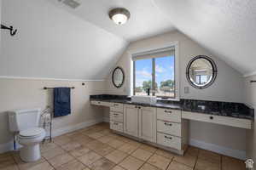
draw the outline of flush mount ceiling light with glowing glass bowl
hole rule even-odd
[[[126,8],[113,8],[108,15],[116,25],[123,25],[130,18],[130,12]]]

